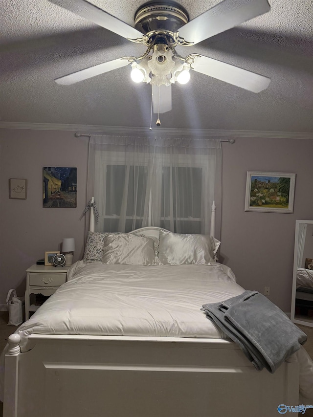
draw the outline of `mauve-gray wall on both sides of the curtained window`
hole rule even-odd
[[[10,288],[23,295],[25,269],[64,237],[75,238],[74,261],[83,255],[88,138],[73,133],[0,129],[0,304]],[[313,219],[313,140],[235,139],[223,143],[220,261],[290,311],[295,219]],[[77,167],[77,208],[43,208],[44,166]],[[293,214],[245,212],[247,171],[296,173]],[[26,200],[8,198],[9,178],[27,178]]]

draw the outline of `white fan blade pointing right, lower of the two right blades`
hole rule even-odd
[[[191,68],[197,72],[208,75],[209,77],[222,80],[233,86],[245,88],[254,93],[265,90],[270,83],[268,77],[203,55],[195,58]]]

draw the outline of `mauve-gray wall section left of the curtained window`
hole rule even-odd
[[[25,290],[25,269],[75,238],[83,254],[88,138],[73,132],[0,129],[0,304],[7,291]],[[43,208],[43,167],[77,167],[77,208]],[[9,199],[9,178],[27,179],[27,199]]]

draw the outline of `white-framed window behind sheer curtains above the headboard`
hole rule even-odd
[[[156,155],[152,173],[155,177],[150,184],[149,166],[144,161],[126,165],[122,154],[106,152],[99,164],[98,186],[104,207],[99,230],[130,232],[142,227],[147,217],[145,210],[149,211],[149,204],[153,204],[160,227],[178,233],[203,233],[205,158],[201,166],[184,166],[188,164],[186,156],[177,166],[171,166],[168,157]],[[154,188],[152,182],[161,183],[161,189]]]

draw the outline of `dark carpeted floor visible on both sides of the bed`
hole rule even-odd
[[[10,334],[14,333],[14,331],[17,329],[15,326],[8,326],[9,316],[7,311],[0,311],[0,352],[2,352],[3,348],[5,347],[7,343],[7,338]],[[307,336],[308,340],[304,344],[305,349],[313,359],[313,327],[308,326],[300,326],[300,329],[304,331]],[[306,410],[305,412],[306,417],[313,417],[313,409],[312,410]],[[0,401],[0,417],[2,417],[2,402]]]

